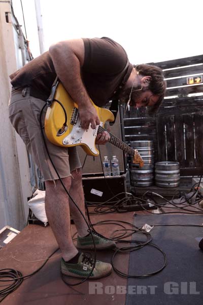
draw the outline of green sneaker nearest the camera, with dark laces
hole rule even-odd
[[[77,264],[66,263],[61,258],[61,273],[65,276],[74,278],[86,278],[93,266],[93,258],[81,253]],[[110,275],[112,271],[112,265],[96,260],[95,267],[89,279],[100,279]]]

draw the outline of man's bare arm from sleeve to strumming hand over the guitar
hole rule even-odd
[[[82,39],[66,40],[52,45],[49,49],[56,74],[63,86],[77,102],[82,128],[92,128],[100,124],[97,112],[90,102],[89,95],[81,78],[85,48]]]

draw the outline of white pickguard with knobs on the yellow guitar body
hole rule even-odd
[[[103,123],[100,123],[103,126]],[[77,123],[74,125],[72,132],[63,139],[64,145],[74,145],[74,144],[85,144],[87,145],[93,154],[97,155],[97,150],[95,149],[95,139],[97,136],[97,130],[99,125],[95,129],[89,127],[88,129],[81,128],[80,117],[77,119]]]

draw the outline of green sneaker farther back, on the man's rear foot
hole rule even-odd
[[[93,235],[95,246],[96,246],[97,250],[114,248],[116,246],[116,243],[114,240],[107,239],[95,232],[92,232],[92,235]],[[80,249],[89,249],[89,250],[94,249],[94,244],[92,241],[91,234],[89,234],[85,237],[78,236],[76,247],[80,248]]]

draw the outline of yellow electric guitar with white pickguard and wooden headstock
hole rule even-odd
[[[63,85],[60,82],[57,83],[52,102],[50,102],[45,116],[45,133],[49,141],[63,147],[81,145],[87,155],[98,156],[99,151],[95,145],[96,136],[106,131],[103,126],[105,126],[106,121],[114,121],[114,115],[110,110],[97,107],[92,101],[91,103],[97,111],[100,125],[97,125],[95,129],[90,126],[88,129],[83,129],[81,128],[78,105],[72,100]],[[139,164],[141,167],[144,165],[137,149],[131,148],[113,134],[109,134],[110,143],[132,156],[133,163]]]

